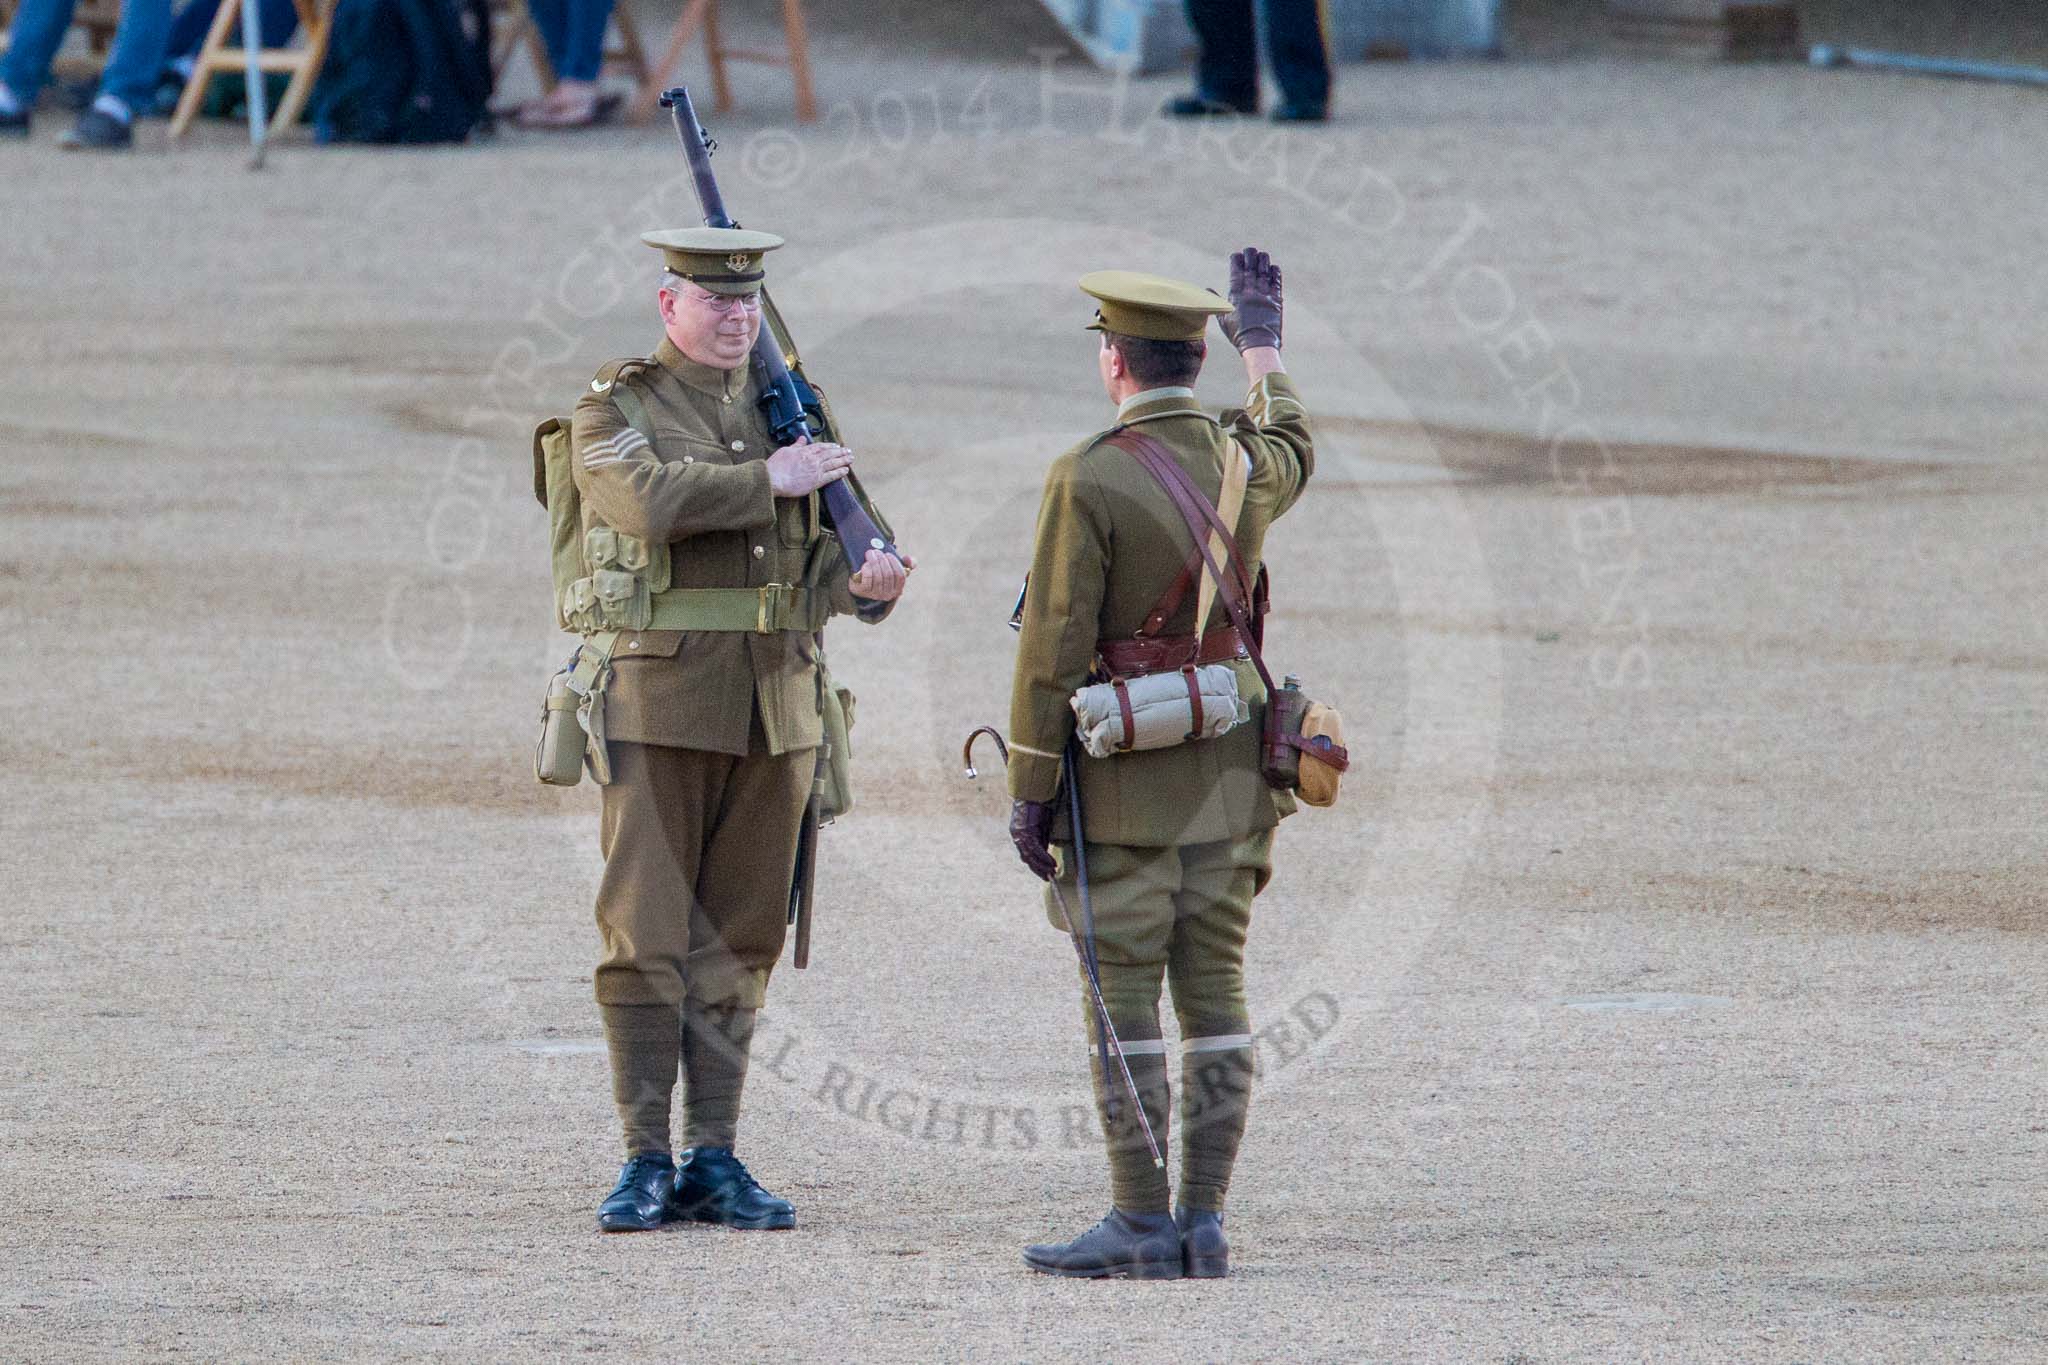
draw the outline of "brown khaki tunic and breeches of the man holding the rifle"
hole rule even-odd
[[[631,387],[649,434],[614,399]],[[651,436],[651,440],[649,440]],[[571,422],[584,530],[668,542],[672,587],[801,583],[817,495],[776,497],[774,452],[748,368],[717,370],[662,342],[598,370]],[[836,614],[854,598],[834,553]],[[823,739],[807,630],[625,632],[612,651],[598,929],[600,1005],[760,1007],[782,950],[797,831]]]

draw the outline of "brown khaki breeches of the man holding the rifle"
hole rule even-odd
[[[756,729],[758,729],[756,720]],[[817,751],[748,757],[612,741],[600,1005],[760,1009],[782,954]]]

